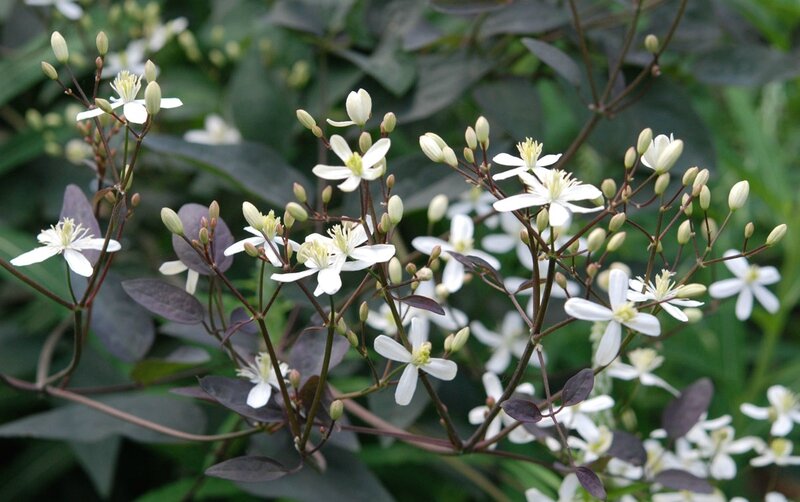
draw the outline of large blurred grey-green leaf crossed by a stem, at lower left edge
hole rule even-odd
[[[98,401],[184,432],[202,434],[205,430],[206,419],[202,410],[187,401],[147,394],[106,396]],[[115,435],[144,443],[178,441],[171,436],[139,427],[82,404],[59,406],[0,426],[0,437],[97,442]]]

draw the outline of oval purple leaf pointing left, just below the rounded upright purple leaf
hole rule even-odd
[[[122,288],[136,303],[170,321],[199,324],[205,317],[197,298],[160,279],[131,279]]]

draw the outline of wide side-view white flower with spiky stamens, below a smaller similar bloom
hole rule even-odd
[[[585,185],[572,178],[570,173],[558,169],[541,169],[536,174],[538,179],[530,174],[520,173],[519,177],[527,186],[528,193],[498,200],[493,204],[494,208],[507,212],[548,205],[550,225],[554,227],[564,225],[572,213],[593,213],[603,209],[602,205],[586,208],[573,204],[575,201],[597,199],[603,193],[592,185]]]

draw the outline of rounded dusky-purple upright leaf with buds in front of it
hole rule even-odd
[[[200,236],[200,223],[203,218],[208,219],[208,208],[200,204],[184,204],[178,210],[178,217],[183,223],[183,232],[186,238],[198,240]],[[233,264],[233,256],[225,256],[225,249],[233,244],[233,235],[228,230],[228,225],[217,218],[217,227],[214,229],[214,239],[211,241],[214,263],[220,271],[224,272]],[[172,236],[172,248],[178,258],[190,269],[203,275],[212,275],[213,272],[205,261],[200,258],[197,251],[185,240],[177,235]]]

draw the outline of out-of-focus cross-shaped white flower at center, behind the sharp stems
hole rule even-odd
[[[411,241],[411,245],[420,253],[431,254],[433,248],[436,246],[441,247],[442,257],[447,261],[447,265],[445,265],[444,271],[442,272],[442,284],[444,284],[445,288],[451,293],[455,293],[461,289],[461,286],[464,284],[464,265],[448,255],[447,253],[450,251],[455,251],[456,253],[467,256],[476,256],[486,261],[489,265],[494,267],[495,270],[500,269],[500,262],[497,261],[494,256],[473,247],[474,241],[472,236],[474,232],[475,226],[472,223],[472,219],[463,214],[457,214],[453,216],[450,222],[449,241],[446,242],[437,237],[425,236],[415,237],[414,240]]]

